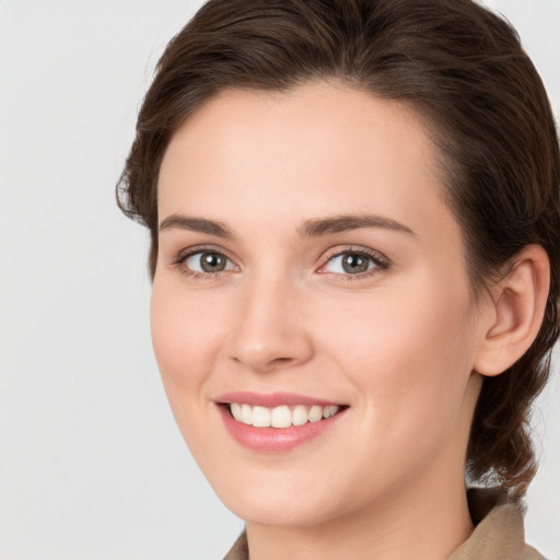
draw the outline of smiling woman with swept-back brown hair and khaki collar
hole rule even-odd
[[[559,179],[538,74],[469,0],[211,0],[172,40],[119,201],[175,418],[246,522],[228,559],[540,558],[515,503]]]

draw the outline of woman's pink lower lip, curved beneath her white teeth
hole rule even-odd
[[[345,413],[346,409],[337,412],[330,418],[325,418],[318,422],[307,422],[302,425],[291,425],[290,428],[255,428],[243,422],[237,422],[228,407],[223,405],[218,406],[222,415],[225,428],[232,438],[253,451],[277,453],[290,451],[314,440],[323,432],[328,430],[339,417]]]

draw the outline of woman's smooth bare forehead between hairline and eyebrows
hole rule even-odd
[[[436,220],[447,209],[435,155],[421,119],[400,102],[325,82],[229,90],[170,142],[160,220],[178,211],[284,223],[357,211]]]

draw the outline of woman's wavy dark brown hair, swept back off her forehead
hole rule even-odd
[[[468,448],[474,480],[524,494],[536,464],[529,407],[545,385],[560,318],[560,156],[550,105],[515,31],[470,0],[210,0],[167,46],[118,185],[122,211],[151,232],[167,144],[228,88],[281,91],[336,79],[413,106],[439,148],[475,293],[526,245],[551,261],[546,316],[530,349],[485,378]]]

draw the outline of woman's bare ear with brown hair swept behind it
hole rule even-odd
[[[489,317],[477,352],[475,371],[499,375],[513,365],[535,340],[548,298],[550,262],[539,245],[527,245],[505,278],[492,289]]]

